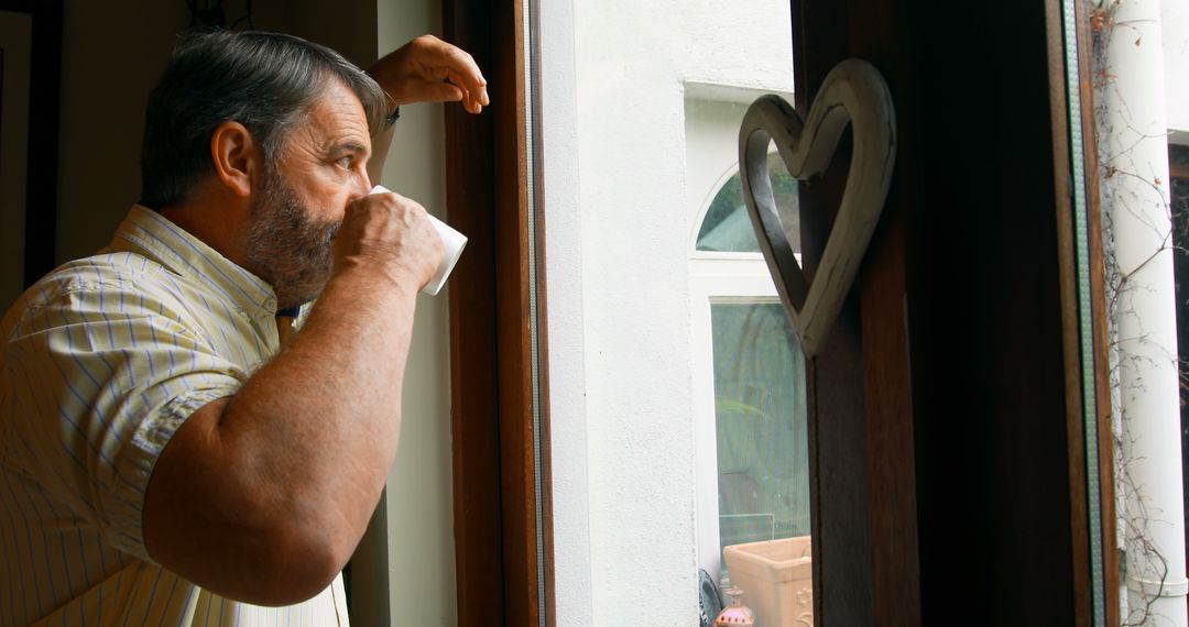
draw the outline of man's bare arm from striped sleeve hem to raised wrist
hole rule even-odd
[[[150,482],[150,555],[257,604],[326,587],[359,542],[400,432],[419,285],[354,266],[227,401],[195,412]]]

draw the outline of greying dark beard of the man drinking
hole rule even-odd
[[[272,284],[278,309],[308,303],[331,279],[340,226],[314,221],[276,167],[265,166],[244,242],[245,267]]]

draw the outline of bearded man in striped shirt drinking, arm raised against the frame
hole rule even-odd
[[[347,623],[442,254],[423,208],[369,195],[422,100],[479,113],[486,83],[428,36],[367,74],[283,34],[182,39],[141,203],[0,327],[0,625]]]

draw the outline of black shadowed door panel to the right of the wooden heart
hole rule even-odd
[[[1072,623],[1045,7],[1005,6],[1011,38],[979,27],[973,5],[944,17],[914,8],[914,31],[930,37],[913,52],[927,176],[913,376],[916,400],[929,399],[918,437],[933,441],[918,452],[918,476],[937,477],[919,492],[924,619],[944,621],[944,602],[961,595],[992,623],[1018,620],[1014,608],[1036,623]]]

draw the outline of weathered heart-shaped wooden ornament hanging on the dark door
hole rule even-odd
[[[850,124],[853,152],[842,204],[812,284],[793,254],[768,178],[768,145],[776,145],[799,180],[822,173]],[[762,96],[740,128],[740,175],[751,227],[780,300],[807,357],[817,355],[850,291],[883,210],[895,162],[895,109],[883,77],[870,64],[835,65],[801,119],[781,97]]]

